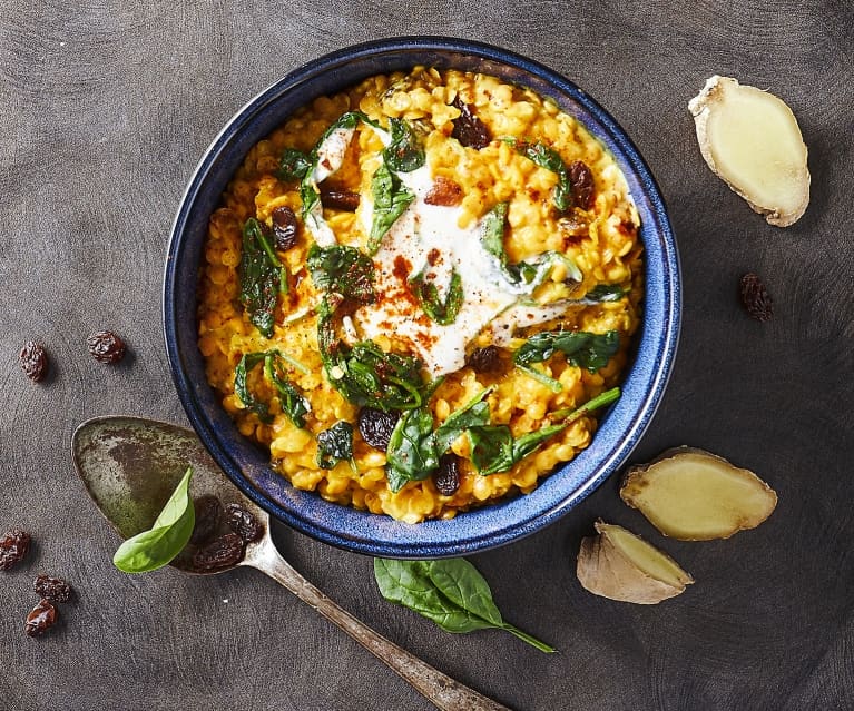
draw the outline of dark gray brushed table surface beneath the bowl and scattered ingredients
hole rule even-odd
[[[258,573],[119,573],[68,454],[95,415],[186,422],[161,337],[163,257],[219,127],[298,65],[405,33],[524,53],[627,129],[668,200],[685,279],[676,368],[631,461],[703,446],[758,472],[779,505],[728,541],[665,541],[612,477],[541,533],[472,556],[505,616],[560,649],[551,656],[385,603],[369,557],[284,526],[279,547],[381,633],[520,711],[853,708],[850,2],[0,0],[0,529],[38,541],[0,573],[0,709],[431,708]],[[713,73],[772,89],[798,117],[813,195],[794,227],[766,225],[703,162],[686,103]],[[748,270],[774,297],[769,323],[739,307]],[[126,337],[120,366],[87,355],[99,328]],[[52,357],[42,385],[18,367],[30,338]],[[575,559],[598,516],[660,544],[697,583],[650,608],[585,592]],[[77,601],[31,640],[38,571],[66,576]]]

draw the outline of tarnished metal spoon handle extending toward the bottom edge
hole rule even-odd
[[[267,546],[264,546],[267,549]],[[268,546],[273,549],[272,544]],[[317,587],[296,572],[275,549],[264,551],[264,555],[247,560],[246,563],[269,575],[277,583],[287,587],[300,600],[314,608],[330,622],[333,622],[356,642],[364,646],[380,661],[406,680],[431,703],[442,711],[510,711],[507,707],[479,694],[459,681],[433,669],[394,642],[374,632],[346,610],[330,600]]]

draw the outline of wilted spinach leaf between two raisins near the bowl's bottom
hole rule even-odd
[[[410,409],[397,421],[386,450],[389,488],[399,492],[406,482],[420,482],[439,468],[433,415],[426,407]]]

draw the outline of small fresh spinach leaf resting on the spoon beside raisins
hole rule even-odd
[[[148,531],[125,541],[112,556],[124,573],[147,573],[170,563],[184,550],[196,525],[189,496],[193,470],[188,468]]]

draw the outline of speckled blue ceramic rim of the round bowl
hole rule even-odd
[[[176,295],[179,290],[181,276],[178,267],[180,266],[180,257],[187,248],[184,236],[188,228],[190,213],[199,195],[203,192],[206,179],[217,159],[233,139],[239,135],[241,130],[246,128],[254,118],[262,115],[266,108],[271,105],[275,106],[288,92],[293,92],[296,87],[305,86],[306,82],[315,81],[320,77],[327,75],[327,72],[342,69],[354,61],[376,57],[377,55],[414,55],[416,52],[463,53],[487,63],[493,62],[508,68],[508,70],[523,72],[529,80],[527,82],[529,86],[536,78],[537,82],[547,85],[577,105],[580,112],[585,115],[583,122],[615,154],[615,158],[618,159],[624,174],[626,174],[627,167],[629,168],[630,175],[626,175],[627,180],[630,184],[634,181],[639,188],[637,192],[635,190],[631,192],[636,204],[639,197],[642,198],[645,206],[648,203],[645,210],[648,213],[649,219],[642,220],[641,234],[655,238],[655,243],[648,245],[647,239],[644,239],[645,271],[647,274],[645,279],[646,295],[642,304],[646,307],[647,299],[649,298],[649,247],[654,246],[656,250],[660,250],[660,264],[658,266],[661,269],[661,275],[658,280],[660,283],[655,285],[655,294],[656,298],[660,302],[662,310],[660,316],[654,314],[652,318],[660,320],[657,325],[660,326],[661,330],[657,336],[649,333],[647,326],[648,313],[645,308],[640,327],[634,336],[635,363],[627,364],[627,371],[625,372],[622,383],[624,396],[600,417],[599,428],[590,446],[579,453],[571,462],[557,467],[546,480],[538,482],[538,487],[530,494],[464,512],[449,521],[433,520],[413,525],[394,521],[385,515],[359,512],[341,504],[322,502],[320,495],[314,492],[297,493],[297,490],[293,490],[289,482],[286,482],[283,475],[275,474],[287,487],[291,487],[295,495],[313,496],[318,502],[322,502],[318,505],[324,510],[333,507],[330,510],[328,517],[306,516],[300,511],[298,506],[293,505],[289,498],[274,501],[268,495],[269,492],[259,491],[257,480],[253,481],[243,471],[234,453],[224,445],[215,423],[198,402],[194,391],[194,383],[189,379],[184,364],[185,350],[180,346],[178,317],[176,314]],[[423,62],[413,59],[409,66],[419,63]],[[355,81],[357,79],[342,80],[340,86],[344,88]],[[592,121],[590,120],[591,118]],[[593,124],[593,126],[590,126],[590,124]],[[602,131],[605,131],[605,135],[602,135]],[[254,145],[257,140],[254,139],[252,144]],[[639,211],[641,211],[640,206]],[[198,265],[193,266],[195,271]],[[616,119],[589,97],[585,90],[544,65],[492,45],[439,36],[394,37],[346,47],[298,67],[246,102],[217,134],[204,151],[202,159],[194,170],[171,225],[164,268],[164,337],[173,381],[193,428],[228,478],[262,508],[302,533],[347,551],[385,557],[449,557],[504,545],[543,529],[578,505],[579,502],[602,484],[628,458],[649,426],[673,372],[681,324],[680,274],[681,269],[675,234],[667,216],[664,198],[651,171],[637,147],[626,131],[617,124]],[[195,324],[194,334],[197,334]],[[192,347],[196,349],[195,357],[200,357],[196,345],[197,337],[194,337],[192,340]],[[647,355],[654,355],[654,362],[646,362],[641,358],[641,356]],[[629,406],[627,404],[629,398],[626,397],[625,386],[630,382],[636,371],[639,375],[635,377],[632,383],[638,384],[635,388],[637,391],[635,397],[639,399]],[[205,386],[207,386],[206,382],[202,387]],[[607,429],[609,422],[612,421],[621,423],[622,426],[619,427],[619,433],[613,432],[613,436],[607,443],[600,442],[600,444],[607,444],[607,446],[597,447],[597,441],[601,440],[602,432]],[[242,435],[238,436],[242,437]],[[616,441],[612,442],[612,440]],[[239,446],[248,446],[248,442],[246,440]],[[593,457],[593,453],[599,452],[599,450],[605,451]],[[534,494],[541,492],[554,477],[563,475],[569,470],[582,468],[587,464],[587,460],[593,460],[591,464],[596,464],[596,466],[585,476],[579,476],[580,472],[576,471],[576,478],[568,480],[567,483],[571,484],[572,481],[580,483],[571,491],[567,491],[560,496],[551,495],[546,497],[544,501],[548,505],[536,507],[534,511],[529,511],[531,508],[530,505],[516,505],[514,507],[514,502],[527,501],[530,504],[538,498]],[[273,473],[268,464],[267,470],[269,473]],[[568,474],[567,477],[569,477]],[[265,480],[265,484],[271,486],[271,480]],[[551,488],[556,486],[558,484],[552,482]],[[502,513],[508,513],[508,510],[513,512],[509,521],[501,515]],[[354,515],[356,519],[353,517]],[[359,516],[364,517],[365,523],[353,529],[353,524],[359,524],[360,522]],[[369,533],[371,535],[367,535]],[[460,535],[454,535],[454,533],[460,533]]]

